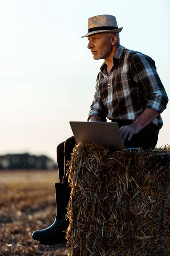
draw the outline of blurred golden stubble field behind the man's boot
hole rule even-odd
[[[0,256],[63,256],[66,245],[40,245],[34,230],[55,218],[57,171],[0,171]]]

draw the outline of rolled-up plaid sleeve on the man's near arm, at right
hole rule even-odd
[[[168,97],[153,59],[140,52],[135,53],[131,60],[131,72],[139,90],[148,101],[145,108],[162,113],[166,109]]]

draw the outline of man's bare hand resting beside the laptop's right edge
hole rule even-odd
[[[139,129],[135,123],[131,125],[122,126],[119,129],[123,142],[125,142],[125,140],[131,140],[132,136],[134,134],[138,134],[140,130],[141,129]]]

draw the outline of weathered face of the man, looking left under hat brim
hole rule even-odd
[[[113,45],[108,32],[94,34],[88,37],[88,49],[91,49],[95,60],[107,59],[111,54]]]

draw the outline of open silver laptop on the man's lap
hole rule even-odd
[[[70,125],[77,144],[97,143],[112,151],[138,149],[125,148],[116,122],[70,122]]]

